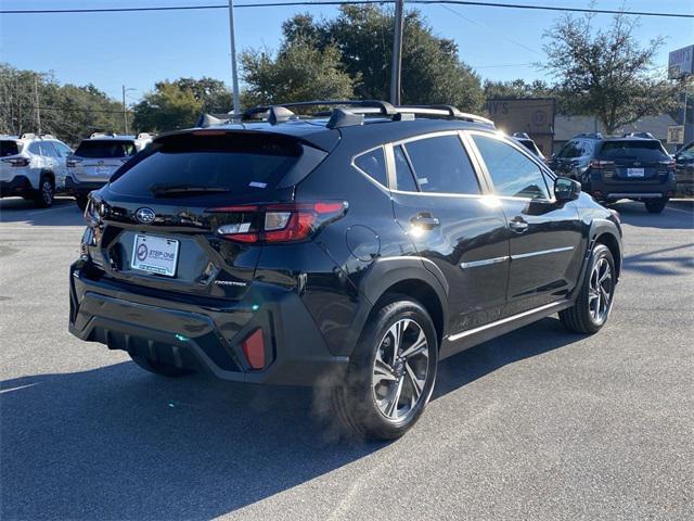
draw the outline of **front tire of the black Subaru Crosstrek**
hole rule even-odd
[[[607,303],[604,304],[604,312],[595,313],[595,309],[597,312],[603,309],[601,303],[604,301],[601,301],[601,298],[604,298],[604,296],[602,292],[599,292],[601,294],[597,296],[597,302],[595,302],[596,297],[594,295],[596,292],[593,291],[591,287],[594,288],[594,282],[602,276],[599,269],[597,277],[594,278],[595,268],[599,264],[603,266],[603,259],[609,268],[609,282],[607,283],[607,279],[605,279],[605,281],[599,283],[605,290],[608,298]],[[576,333],[588,334],[596,333],[602,329],[609,317],[612,305],[615,302],[616,274],[615,260],[609,249],[604,244],[595,244],[588,262],[583,285],[578,294],[576,304],[568,309],[560,312],[560,319],[566,329]]]

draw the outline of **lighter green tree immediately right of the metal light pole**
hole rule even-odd
[[[247,85],[245,106],[354,97],[355,81],[343,71],[339,51],[333,46],[318,49],[296,39],[285,42],[277,56],[246,51],[241,63]]]

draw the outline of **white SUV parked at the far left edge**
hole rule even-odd
[[[50,135],[0,136],[0,198],[21,196],[47,208],[65,189],[72,149]]]

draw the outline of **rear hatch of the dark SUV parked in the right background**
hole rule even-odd
[[[672,158],[655,139],[606,140],[592,167],[606,183],[659,183],[674,168]]]

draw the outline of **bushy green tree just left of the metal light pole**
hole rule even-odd
[[[134,105],[134,127],[139,131],[162,132],[191,127],[197,120],[205,101],[192,88],[177,81],[158,81],[153,92]]]

